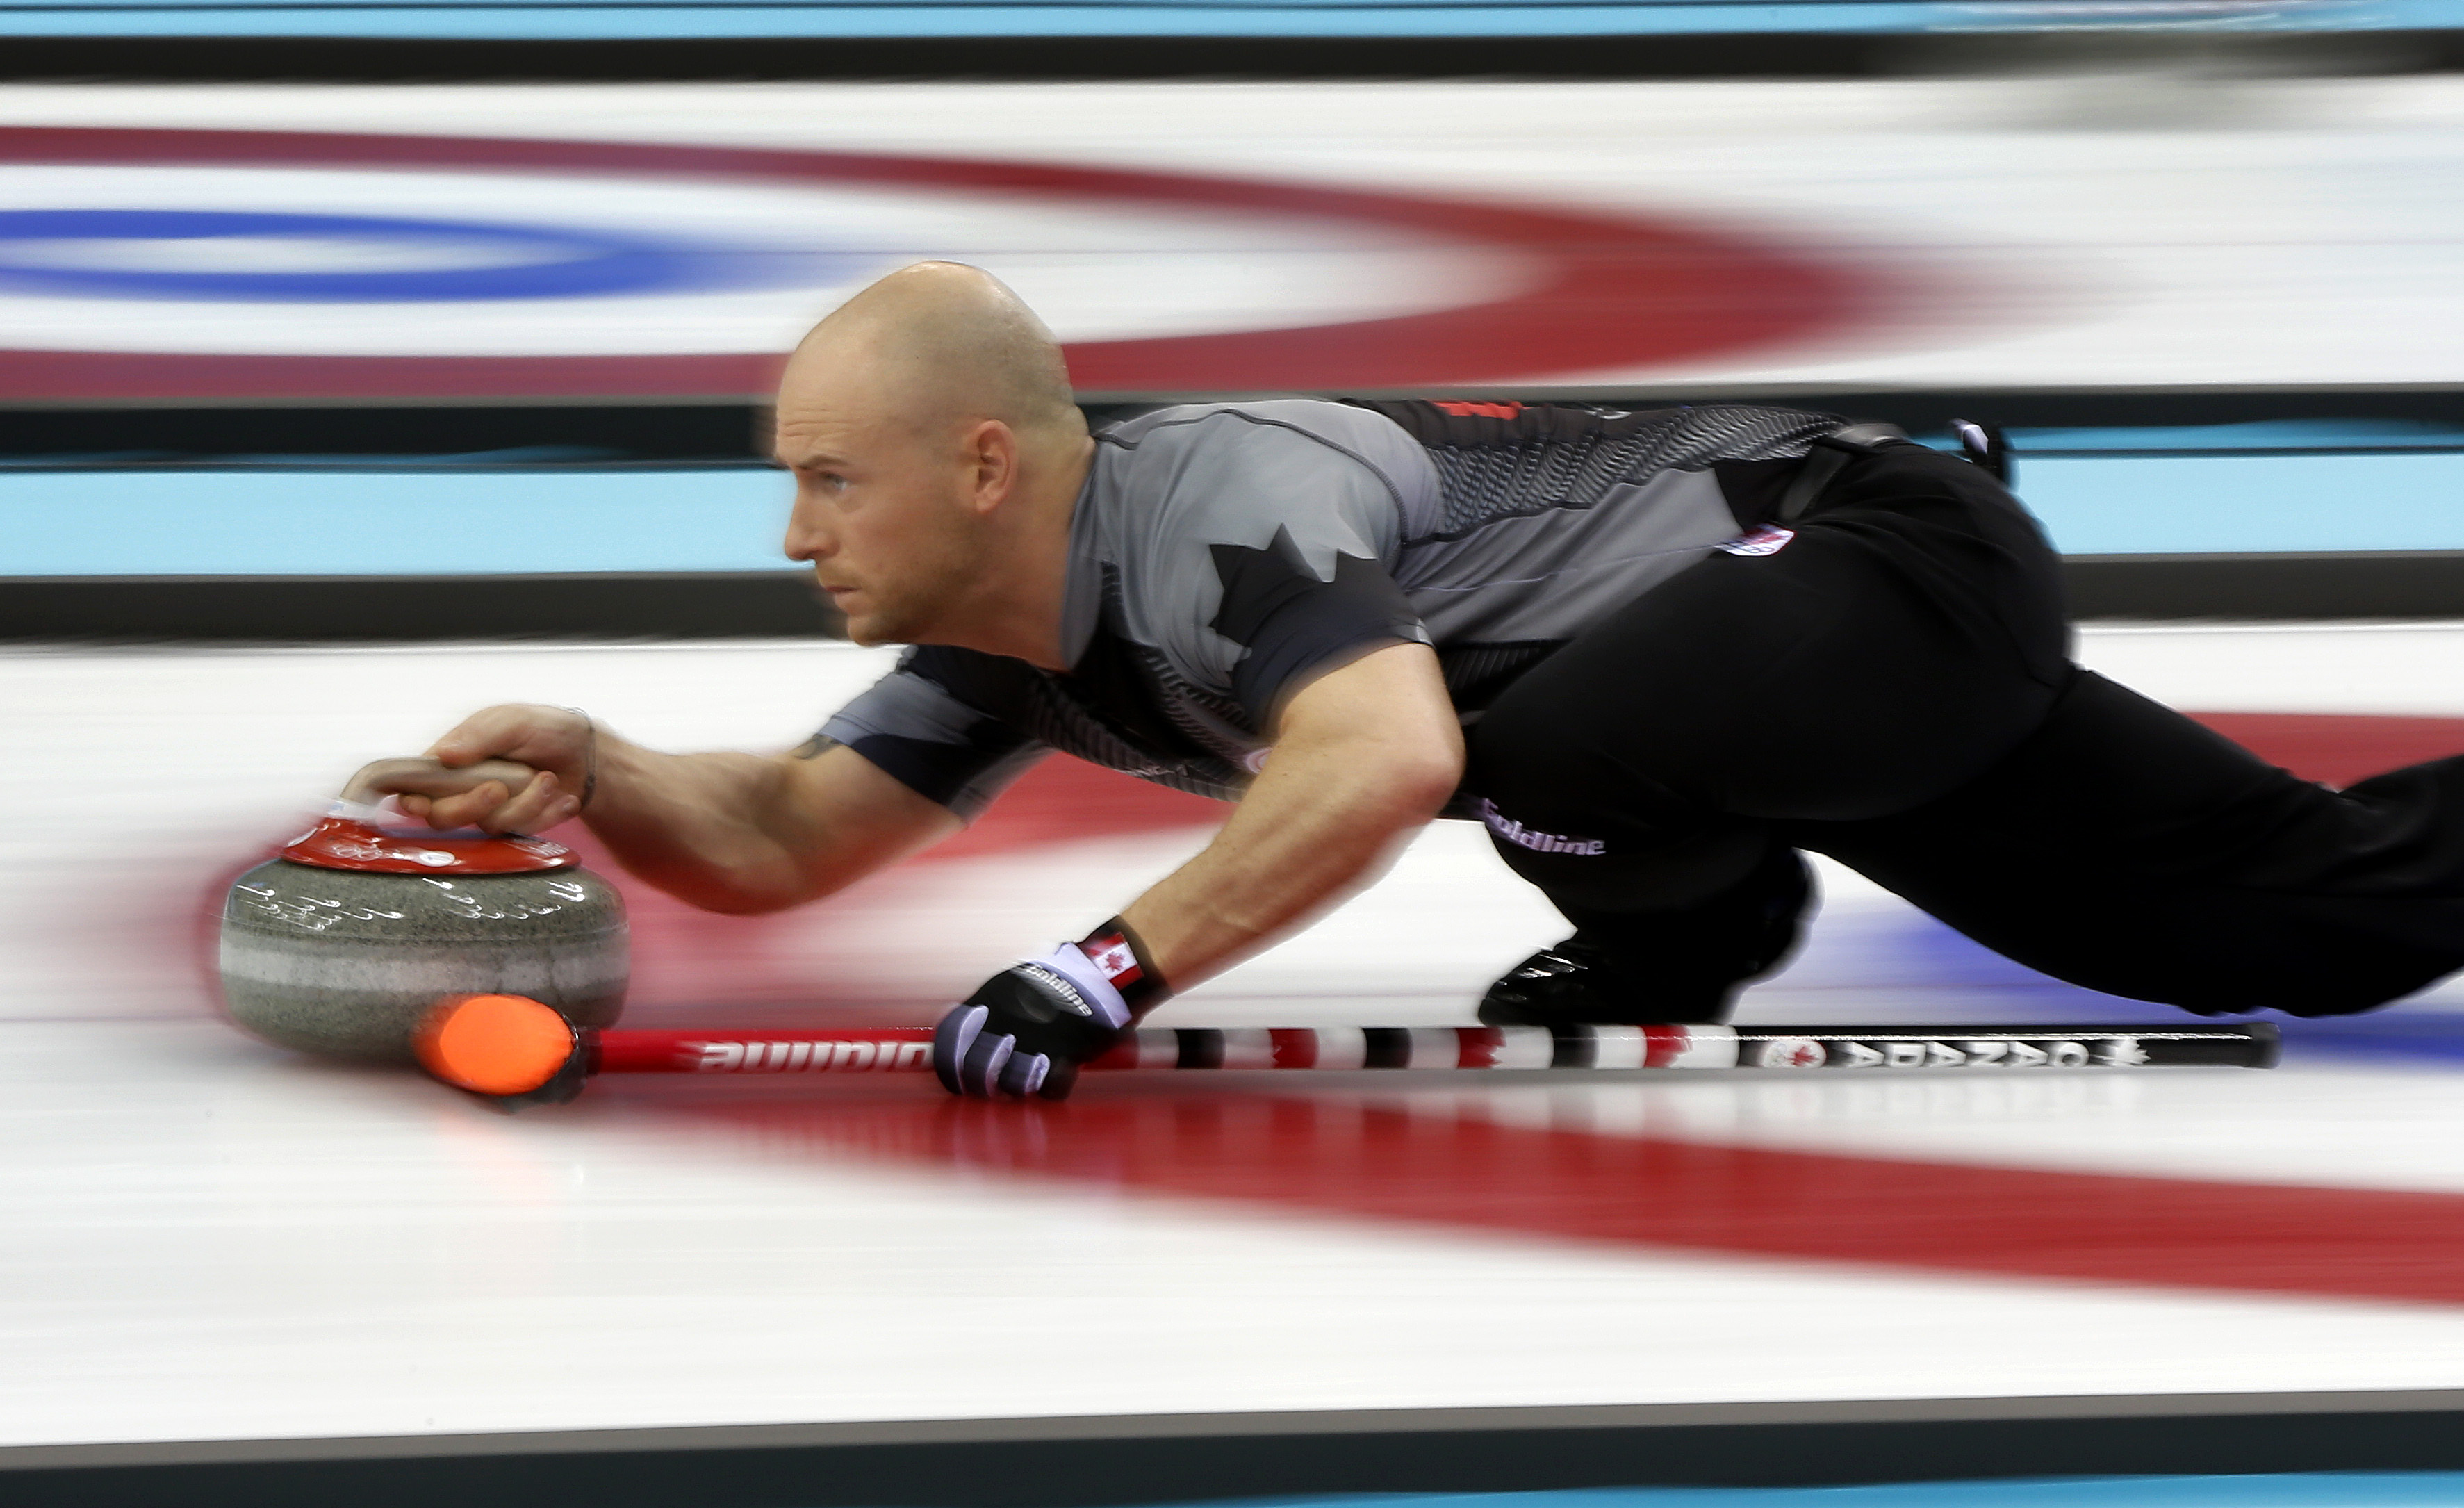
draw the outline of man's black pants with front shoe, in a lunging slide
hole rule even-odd
[[[1779,963],[1799,850],[2195,1013],[2368,1010],[2464,968],[2464,756],[2328,791],[2080,670],[2035,522],[1922,446],[1535,665],[1473,724],[1469,786],[1653,1020],[1717,1020]]]

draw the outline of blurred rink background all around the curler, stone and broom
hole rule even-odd
[[[2316,779],[2464,747],[2464,0],[7,2],[0,1496],[219,1501],[205,1461],[320,1451],[389,1466],[232,1501],[2464,1466],[2452,988],[2230,1082],[1096,1089],[963,1124],[922,1084],[508,1121],[227,1030],[202,909],[362,759],[495,700],[788,747],[882,670],[779,559],[761,399],[924,256],[1018,286],[1099,414],[1991,424],[2092,665]],[[636,887],[636,1020],[929,1020],[1215,816],[1052,761],[816,912]],[[1749,1015],[2163,1015],[1823,880]],[[1444,825],[1170,1010],[1469,1020],[1557,929]],[[1257,1444],[1308,1409],[1387,1414]],[[2166,1412],[2208,1424],[2060,1424]],[[995,1451],[1131,1414],[1249,1444]],[[771,1476],[631,1469],[643,1432]]]

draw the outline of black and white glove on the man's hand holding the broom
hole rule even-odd
[[[1126,926],[1025,959],[983,981],[931,1035],[951,1094],[1067,1099],[1082,1062],[1104,1057],[1165,995]]]

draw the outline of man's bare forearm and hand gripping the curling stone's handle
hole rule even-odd
[[[429,749],[441,764],[515,759],[520,791],[404,796],[429,823],[530,833],[582,818],[626,870],[712,912],[776,912],[818,899],[958,830],[853,749],[821,754],[660,754],[569,707],[488,707]]]

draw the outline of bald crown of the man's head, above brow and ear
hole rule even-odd
[[[1008,283],[956,261],[904,266],[813,325],[781,399],[811,389],[922,436],[983,419],[1030,446],[1087,434],[1052,330]]]

